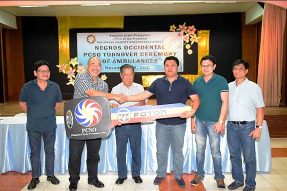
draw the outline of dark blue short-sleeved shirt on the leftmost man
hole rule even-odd
[[[21,89],[19,101],[27,104],[27,130],[52,131],[57,127],[55,106],[63,101],[58,84],[48,80],[42,91],[37,79],[32,80]]]

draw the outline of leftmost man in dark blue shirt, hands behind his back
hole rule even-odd
[[[40,60],[34,64],[35,80],[26,83],[20,93],[19,105],[27,112],[27,132],[31,149],[32,180],[28,189],[40,182],[41,142],[44,140],[47,180],[58,184],[54,176],[54,145],[56,138],[56,109],[62,101],[59,85],[51,82],[48,62]]]

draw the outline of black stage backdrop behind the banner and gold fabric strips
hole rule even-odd
[[[127,16],[125,17],[124,30],[117,31],[169,31],[171,25],[195,25],[197,30],[211,30],[210,54],[217,58],[218,64],[215,72],[234,80],[231,64],[241,58],[241,13],[204,14],[204,15],[169,15],[169,16]],[[108,32],[108,29],[83,29],[82,32]],[[79,30],[76,30],[79,32]],[[70,57],[76,57],[76,43],[70,31]],[[51,80],[60,85],[64,99],[71,99],[73,87],[67,86],[67,77],[58,73],[58,37],[56,17],[23,17],[23,43],[25,81],[32,80],[32,63],[39,59],[47,60],[51,64]],[[184,71],[181,74],[192,74],[194,65],[197,65],[197,46],[193,45],[194,54],[185,58]],[[187,54],[184,51],[184,54]],[[186,57],[187,55],[185,55]],[[197,69],[195,70],[197,71]],[[141,75],[158,75],[162,73],[136,73],[135,82],[141,82]],[[109,73],[107,83],[109,88],[120,82],[119,74]]]

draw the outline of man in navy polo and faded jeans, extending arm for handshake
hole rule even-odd
[[[182,178],[183,173],[183,140],[186,132],[186,118],[194,115],[200,100],[190,81],[182,78],[178,73],[179,61],[170,56],[164,62],[166,77],[156,79],[151,86],[142,93],[127,96],[127,101],[142,101],[156,96],[157,105],[163,104],[186,104],[187,99],[192,101],[192,110],[186,111],[180,117],[161,118],[156,120],[156,158],[157,171],[154,184],[162,182],[167,174],[168,151],[171,146],[173,154],[174,177],[179,187],[185,187]]]

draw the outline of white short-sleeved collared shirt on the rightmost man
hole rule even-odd
[[[236,87],[235,81],[230,82],[228,121],[251,122],[256,120],[256,108],[264,107],[260,87],[247,78]]]

